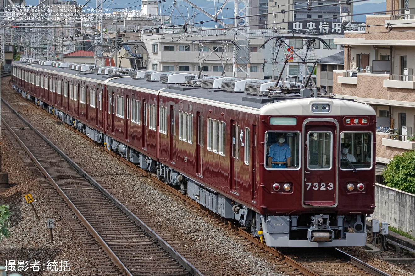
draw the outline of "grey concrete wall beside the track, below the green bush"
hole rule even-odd
[[[415,195],[376,184],[375,212],[372,219],[415,234]]]

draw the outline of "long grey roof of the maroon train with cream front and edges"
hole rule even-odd
[[[324,115],[312,112],[313,103],[330,103],[330,115],[355,114],[355,115],[376,115],[373,108],[363,103],[356,103],[344,99],[333,101],[328,97],[302,97],[299,94],[281,94],[277,96],[256,96],[246,93],[232,93],[221,89],[208,89],[200,86],[183,86],[180,84],[165,84],[160,81],[146,81],[144,79],[133,79],[122,75],[105,75],[88,72],[80,72],[69,68],[58,68],[38,64],[28,65],[26,62],[16,61],[22,66],[30,66],[37,70],[59,72],[76,79],[92,79],[101,84],[116,86],[135,91],[145,91],[153,94],[160,93],[161,96],[173,96],[183,100],[202,101],[206,104],[215,104],[226,108],[237,110],[251,110],[252,113],[262,115]],[[154,71],[152,71],[154,72]],[[181,72],[183,73],[183,72]],[[212,77],[215,78],[215,77]],[[265,82],[260,80],[256,82]],[[272,82],[272,80],[269,80]],[[281,104],[283,103],[283,104]],[[327,114],[327,113],[326,113]]]

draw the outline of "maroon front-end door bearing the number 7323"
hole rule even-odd
[[[304,124],[304,207],[337,205],[336,145],[338,123],[333,119],[308,119]]]

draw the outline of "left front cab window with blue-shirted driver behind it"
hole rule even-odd
[[[300,133],[267,131],[265,133],[265,167],[267,170],[300,168]]]

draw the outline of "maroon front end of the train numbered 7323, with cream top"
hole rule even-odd
[[[364,245],[375,207],[373,108],[322,97],[269,103],[260,113],[262,214],[252,232],[269,246]]]

